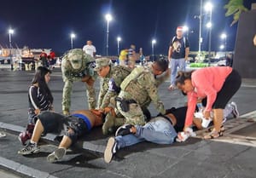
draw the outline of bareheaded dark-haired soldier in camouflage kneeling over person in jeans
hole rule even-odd
[[[157,88],[168,78],[169,70],[167,69],[168,60],[157,59],[150,66],[137,66],[121,83],[121,91],[116,98],[116,106],[125,117],[125,123],[143,125],[145,123],[143,110],[148,107],[151,100],[158,112],[166,113],[157,94]],[[156,78],[163,72],[166,72],[166,75]]]

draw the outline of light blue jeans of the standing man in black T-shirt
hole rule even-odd
[[[181,59],[171,59],[171,84],[174,86],[175,84],[175,78],[177,75],[177,66],[179,68],[179,71],[185,71],[186,70],[186,60],[184,58]]]

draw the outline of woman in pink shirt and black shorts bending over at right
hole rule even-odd
[[[205,118],[210,118],[210,112],[213,112],[214,127],[204,138],[213,139],[223,135],[221,131],[223,109],[241,86],[239,73],[230,66],[206,67],[196,71],[178,72],[175,84],[188,95],[184,129],[192,124],[195,106],[199,99],[205,106],[203,111]]]

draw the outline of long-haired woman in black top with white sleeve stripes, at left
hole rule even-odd
[[[28,124],[26,131],[20,133],[19,140],[23,145],[31,139],[36,117],[42,111],[53,110],[53,96],[48,87],[51,71],[45,66],[38,66],[32,85],[28,91]]]

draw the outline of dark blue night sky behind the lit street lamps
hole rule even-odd
[[[206,0],[205,0],[206,1]],[[233,50],[236,39],[233,17],[225,17],[224,4],[228,0],[212,0],[212,50],[221,44],[219,35],[228,34],[227,49]],[[256,0],[245,0],[248,9]],[[9,45],[9,27],[15,30],[13,46],[32,49],[53,49],[62,54],[71,48],[70,33],[74,32],[74,48],[82,48],[87,40],[93,41],[98,55],[106,55],[107,21],[109,24],[109,55],[117,55],[118,36],[120,49],[134,43],[151,54],[151,40],[156,39],[155,54],[167,54],[168,44],[176,27],[189,26],[190,49],[198,50],[200,0],[3,0],[0,4],[0,44]],[[202,49],[207,50],[207,16],[203,18]]]

